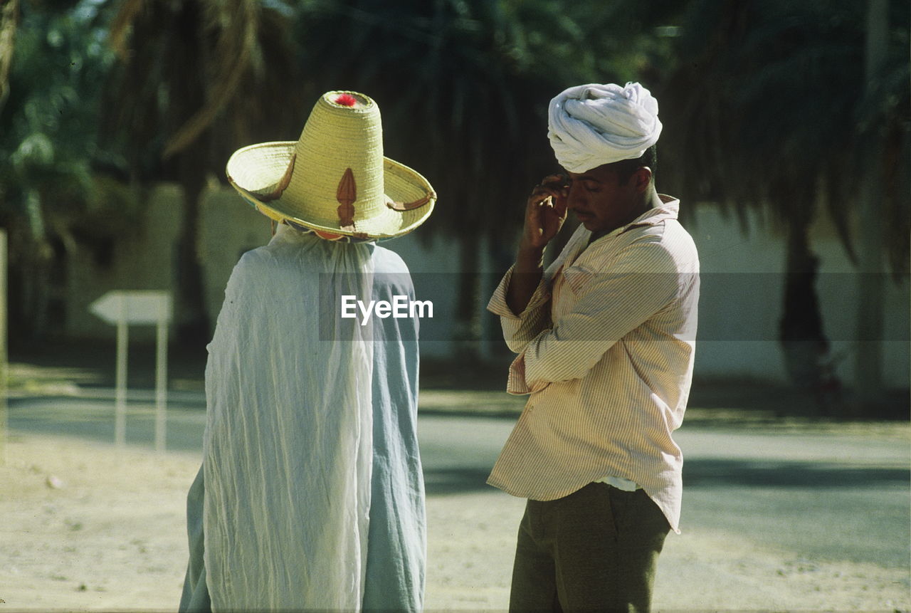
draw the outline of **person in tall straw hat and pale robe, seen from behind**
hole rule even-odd
[[[424,483],[417,323],[341,316],[342,296],[414,298],[375,244],[434,208],[383,157],[380,112],[329,92],[297,142],[235,152],[228,177],[278,223],[231,273],[206,366],[181,610],[419,610]]]

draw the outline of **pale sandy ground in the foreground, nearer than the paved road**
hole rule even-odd
[[[12,434],[0,466],[0,613],[175,610],[184,501],[199,456]],[[523,501],[496,490],[427,499],[426,609],[506,608]],[[907,572],[817,564],[735,537],[671,535],[659,610],[906,610]]]

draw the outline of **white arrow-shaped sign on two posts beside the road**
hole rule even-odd
[[[154,323],[156,334],[155,449],[165,450],[168,404],[168,323],[171,296],[168,291],[108,291],[89,305],[89,310],[117,326],[117,389],[114,403],[114,440],[123,446],[127,438],[127,348],[128,324]]]

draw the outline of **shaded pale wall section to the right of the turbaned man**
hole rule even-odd
[[[783,236],[757,214],[745,229],[713,206],[691,211],[686,223],[700,250],[702,292],[696,373],[707,378],[744,377],[784,381],[782,355],[775,341],[783,307]],[[831,353],[840,357],[837,374],[852,382],[855,328],[864,301],[858,276],[834,229],[824,220],[811,230],[820,258],[817,294]],[[885,287],[884,383],[907,387],[909,360],[907,280]],[[711,340],[709,340],[711,339]]]

